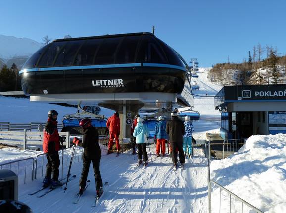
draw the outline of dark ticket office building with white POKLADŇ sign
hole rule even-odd
[[[224,86],[214,106],[224,139],[286,134],[286,84]]]

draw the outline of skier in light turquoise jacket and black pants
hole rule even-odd
[[[143,164],[148,165],[148,154],[146,151],[147,136],[149,135],[149,130],[146,124],[143,124],[143,120],[139,117],[137,118],[137,125],[134,128],[133,136],[136,137],[136,144],[138,148],[138,164],[142,163],[143,154]]]

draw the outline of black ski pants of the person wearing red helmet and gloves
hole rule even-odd
[[[99,190],[99,187],[103,186],[101,175],[100,175],[100,170],[99,170],[100,159],[92,160],[92,159],[87,158],[85,154],[83,155],[83,170],[82,170],[82,176],[80,178],[79,186],[82,186],[82,187],[86,186],[91,162],[93,162],[96,190]]]

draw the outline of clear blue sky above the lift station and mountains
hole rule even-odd
[[[200,67],[286,53],[285,0],[1,0],[0,34],[52,39],[151,32]]]

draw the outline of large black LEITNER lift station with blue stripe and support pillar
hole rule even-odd
[[[19,72],[32,102],[102,106],[118,111],[129,138],[138,110],[192,107],[189,67],[152,33],[57,39],[34,53]]]

